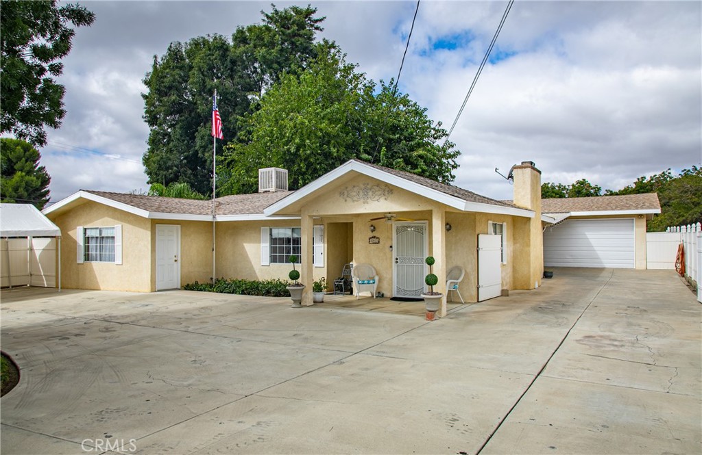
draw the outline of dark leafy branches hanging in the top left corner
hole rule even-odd
[[[83,6],[57,6],[55,0],[0,2],[0,128],[37,147],[46,127],[58,128],[64,86],[56,83],[71,50],[72,27],[91,25],[95,15]]]

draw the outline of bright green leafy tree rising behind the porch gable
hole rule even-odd
[[[240,127],[218,168],[227,178],[223,193],[256,191],[257,170],[270,166],[287,169],[289,187],[297,189],[350,158],[449,183],[460,154],[441,142],[446,131],[426,109],[392,83],[376,90],[327,43],[303,74],[282,76]]]

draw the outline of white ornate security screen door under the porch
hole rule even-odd
[[[394,297],[420,298],[427,271],[427,222],[397,222],[392,229],[392,293]]]

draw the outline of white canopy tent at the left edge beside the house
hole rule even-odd
[[[61,230],[34,205],[0,203],[0,238],[3,287],[37,285],[61,290]]]

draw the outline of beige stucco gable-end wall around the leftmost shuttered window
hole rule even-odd
[[[150,292],[150,221],[86,201],[72,210],[47,215],[61,229],[61,285],[67,289]],[[77,263],[77,226],[122,225],[122,264]]]

